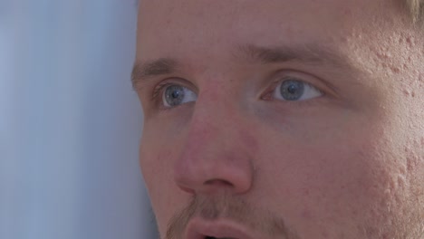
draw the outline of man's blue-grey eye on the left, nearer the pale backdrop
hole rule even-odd
[[[162,103],[166,108],[172,108],[184,103],[195,101],[198,96],[187,87],[171,84],[165,87],[162,95]]]

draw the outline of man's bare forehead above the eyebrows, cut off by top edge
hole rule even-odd
[[[143,0],[138,57],[187,55],[188,49],[207,56],[236,44],[347,41],[354,28],[381,27],[387,20],[381,16],[397,7],[388,0]]]

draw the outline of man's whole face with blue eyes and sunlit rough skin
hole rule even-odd
[[[159,233],[424,238],[422,62],[396,1],[141,1]]]

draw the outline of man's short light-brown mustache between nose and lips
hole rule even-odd
[[[284,224],[284,219],[275,213],[250,205],[239,196],[194,195],[188,206],[169,220],[166,239],[183,239],[189,221],[200,217],[207,221],[220,218],[232,220],[255,232],[271,238],[298,239]]]

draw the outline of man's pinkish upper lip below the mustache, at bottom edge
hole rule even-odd
[[[254,239],[244,225],[227,219],[208,221],[193,218],[187,227],[185,239],[205,239],[206,236],[215,238]]]

